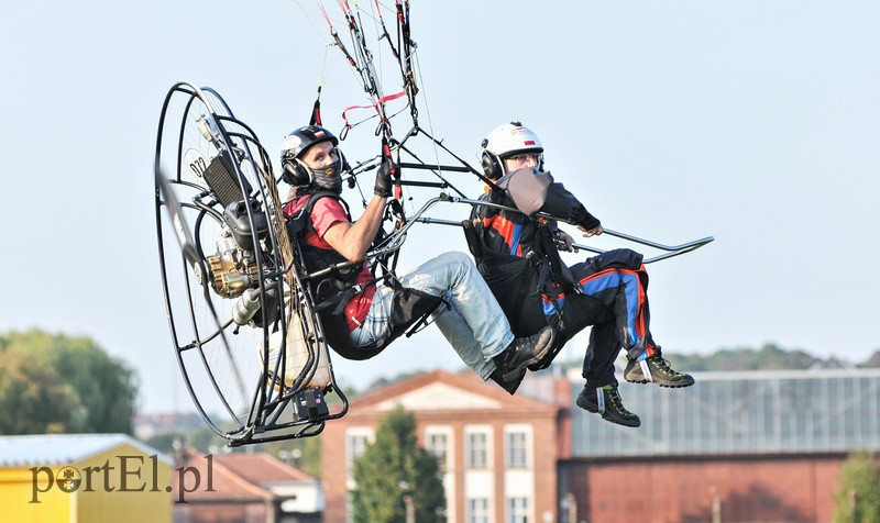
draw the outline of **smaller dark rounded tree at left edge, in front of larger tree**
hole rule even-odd
[[[0,434],[43,434],[68,432],[84,409],[52,368],[0,349]]]

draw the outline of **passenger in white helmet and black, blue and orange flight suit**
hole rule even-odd
[[[584,236],[603,233],[602,223],[562,183],[543,171],[543,147],[538,136],[518,122],[494,129],[482,144],[482,163],[493,180],[482,200],[520,212],[476,207],[469,243],[486,279],[517,335],[547,324],[558,327],[556,352],[576,333],[593,325],[584,356],[584,390],[576,403],[590,412],[626,426],[639,426],[639,416],[626,410],[614,377],[614,360],[627,352],[624,378],[661,387],[688,387],[690,375],[673,370],[663,359],[649,330],[648,272],[641,255],[609,251],[566,267],[558,249],[572,251],[573,238],[544,212],[578,226]],[[550,364],[556,352],[531,370]],[[519,386],[496,379],[512,392]]]

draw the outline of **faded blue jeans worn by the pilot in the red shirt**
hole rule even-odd
[[[471,257],[444,253],[399,277],[404,287],[441,297],[452,307],[441,304],[433,320],[459,357],[483,379],[495,370],[492,357],[514,341],[510,324],[495,301]],[[352,342],[370,346],[389,329],[394,288],[378,283],[363,325],[351,333]]]

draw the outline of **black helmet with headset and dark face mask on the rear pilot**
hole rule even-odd
[[[339,140],[330,131],[318,125],[299,127],[284,137],[282,145],[282,179],[292,186],[316,185],[321,189],[342,190],[342,155],[333,166],[311,169],[300,160],[312,145],[330,142],[336,147]]]

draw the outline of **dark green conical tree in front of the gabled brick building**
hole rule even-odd
[[[402,407],[388,413],[376,441],[354,461],[354,521],[406,521],[404,496],[411,497],[416,521],[444,521],[443,483],[437,457],[418,447],[416,419]]]

